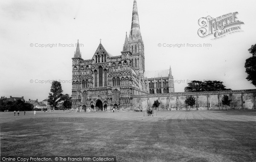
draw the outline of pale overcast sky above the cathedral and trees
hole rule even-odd
[[[256,44],[255,6],[255,0],[137,0],[145,70],[171,66],[175,92],[183,92],[191,80],[254,89],[244,63],[251,57],[248,48]],[[121,55],[132,8],[133,0],[1,0],[0,96],[42,101],[52,80],[61,82],[63,94],[71,94],[77,40],[84,60],[93,57],[100,39],[108,53]],[[244,22],[240,32],[219,39],[198,36],[201,17],[233,12]]]

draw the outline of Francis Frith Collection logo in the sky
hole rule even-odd
[[[212,18],[211,16],[201,17],[198,20],[198,24],[201,26],[198,29],[199,37],[213,35],[213,39],[217,39],[227,34],[241,31],[241,24],[244,23],[237,20],[236,14],[238,12],[230,12],[217,18]]]

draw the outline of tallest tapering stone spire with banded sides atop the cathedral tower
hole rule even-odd
[[[132,10],[131,31],[129,35],[129,40],[130,41],[142,40],[140,35],[140,23],[139,23],[139,15],[138,15],[136,0],[134,0],[134,6]]]

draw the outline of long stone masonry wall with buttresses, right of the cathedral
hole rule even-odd
[[[134,95],[133,105],[134,108],[142,108],[145,111],[146,108],[152,107],[154,101],[158,99],[159,110],[185,110],[187,108],[184,103],[186,98],[193,96],[196,99],[196,104],[191,107],[192,110],[225,109],[225,105],[221,103],[224,95],[231,100],[227,109],[256,109],[256,89]]]

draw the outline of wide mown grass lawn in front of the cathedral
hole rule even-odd
[[[118,162],[256,161],[256,110],[0,113],[1,156]],[[157,115],[157,116],[156,116]]]

